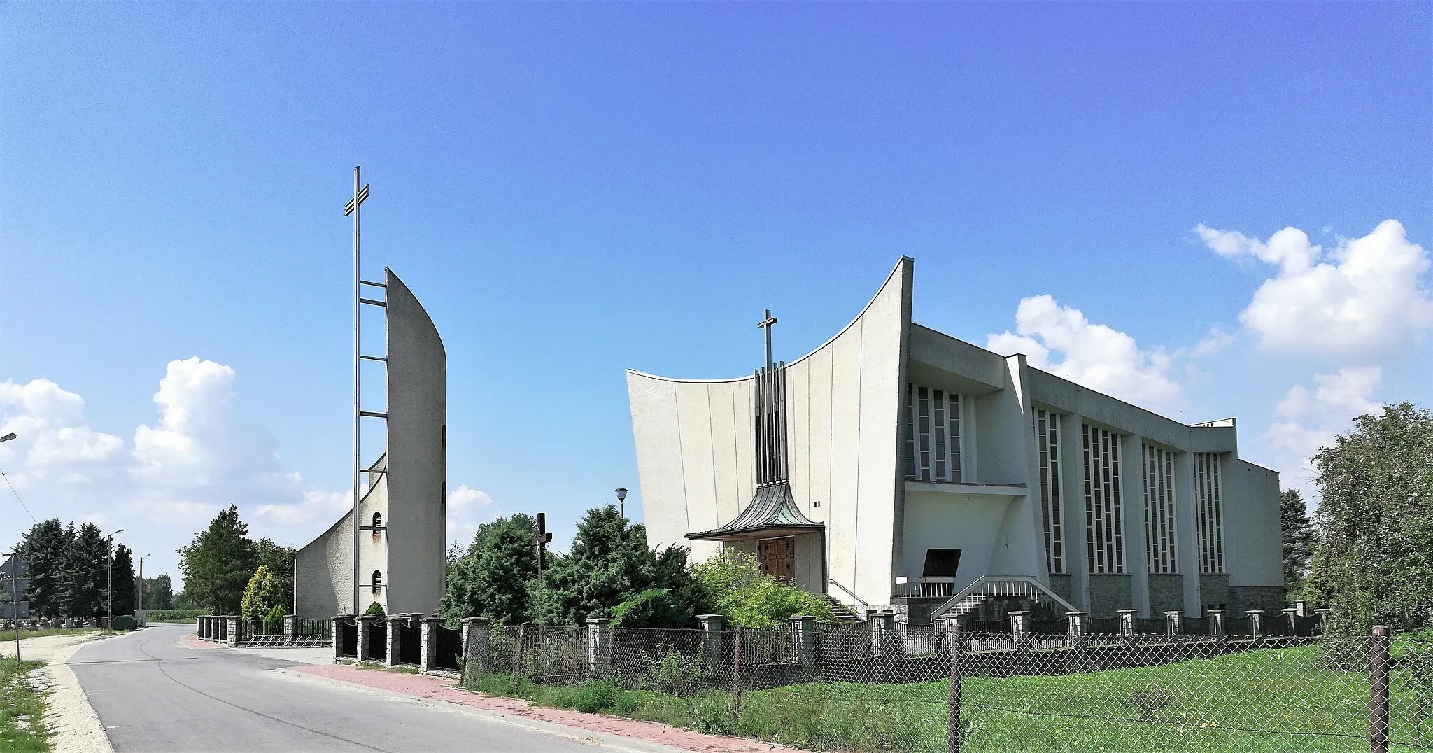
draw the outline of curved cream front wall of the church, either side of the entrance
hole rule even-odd
[[[870,604],[891,594],[904,479],[900,422],[911,300],[901,258],[871,303],[835,337],[787,366],[790,482],[808,518],[827,522],[827,575]],[[705,559],[694,531],[735,518],[755,493],[752,377],[679,380],[628,371],[648,544]],[[814,502],[820,501],[821,506]],[[804,565],[805,587],[825,592]],[[833,597],[850,602],[843,588]]]

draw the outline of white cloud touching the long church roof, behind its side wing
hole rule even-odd
[[[1025,353],[1030,366],[1134,403],[1168,409],[1179,397],[1179,384],[1169,377],[1172,354],[1141,350],[1129,334],[1093,324],[1050,295],[1022,298],[1015,333],[990,334],[986,347]]]

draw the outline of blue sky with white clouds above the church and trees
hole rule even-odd
[[[37,518],[123,526],[146,572],[228,501],[322,531],[361,164],[365,275],[391,265],[447,344],[454,536],[543,509],[562,544],[638,489],[623,369],[747,373],[767,307],[794,359],[903,254],[917,321],[1237,415],[1247,459],[1307,483],[1353,415],[1427,403],[1430,27],[1413,3],[4,4],[0,468]]]

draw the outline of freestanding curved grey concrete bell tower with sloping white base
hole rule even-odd
[[[433,614],[443,598],[447,354],[423,304],[393,270],[384,270],[383,283],[364,285],[383,291],[383,300],[361,303],[384,310],[385,353],[361,357],[383,364],[387,404],[355,407],[355,420],[385,425],[387,450],[361,469],[367,488],[357,522],[354,511],[344,512],[294,559],[294,610],[307,620],[363,612],[373,602],[387,614]]]

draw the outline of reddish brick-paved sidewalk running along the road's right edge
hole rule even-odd
[[[460,706],[486,709],[489,711],[500,711],[504,714],[536,719],[539,721],[562,724],[565,727],[576,727],[580,730],[602,731],[608,734],[619,734],[622,737],[646,740],[649,743],[679,747],[684,750],[695,750],[698,753],[755,753],[761,750],[795,750],[792,747],[780,746],[775,743],[765,743],[761,740],[748,740],[745,737],[725,737],[718,734],[702,734],[699,731],[691,731],[691,730],[679,730],[676,727],[668,727],[666,724],[659,724],[656,721],[638,721],[633,719],[622,719],[615,716],[585,714],[582,711],[569,711],[565,709],[547,709],[542,706],[532,706],[527,701],[516,698],[502,698],[496,696],[486,696],[483,693],[471,693],[467,690],[461,690],[453,687],[451,680],[444,680],[441,677],[433,677],[427,674],[403,674],[384,670],[364,670],[347,664],[318,664],[308,667],[289,667],[289,671],[317,674],[320,677],[342,680],[345,683],[375,687],[393,693],[403,693],[407,696],[418,696],[421,698],[433,698],[447,703],[456,703]]]

